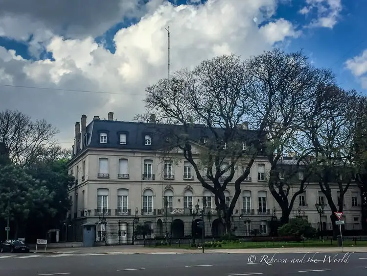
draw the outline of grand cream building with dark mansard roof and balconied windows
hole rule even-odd
[[[213,195],[197,180],[182,153],[175,151],[167,156],[157,150],[155,144],[159,141],[150,131],[152,124],[154,122],[115,121],[112,112],[107,120],[94,117],[88,125],[87,117],[83,115],[81,124],[75,124],[73,158],[69,163],[69,173],[75,176],[75,185],[69,194],[73,202],[69,218],[73,224],[95,223],[104,217],[107,222],[119,222],[119,233],[127,235],[127,223],[133,222],[138,208],[139,222],[161,228],[162,222],[164,225],[168,220],[175,222],[176,235],[189,235],[184,229],[184,223],[193,220],[189,205],[199,204],[202,209],[203,202],[206,202],[206,211],[212,213],[214,223]],[[193,140],[196,158],[200,148],[200,143]],[[233,182],[228,185],[227,201],[231,200],[234,180],[242,170],[239,165]],[[274,208],[276,216],[281,216],[281,209],[267,188],[269,170],[269,162],[258,157],[241,186],[242,194],[233,211],[234,222],[259,222],[257,227],[262,234],[269,233],[267,222],[274,215]],[[303,173],[299,172],[298,180],[301,181],[302,177]],[[297,186],[291,187],[289,197],[298,191]],[[336,189],[333,197],[338,197]],[[360,198],[360,192],[354,186],[344,196],[344,221],[353,228],[360,228],[361,224]],[[318,224],[320,217],[315,207],[318,201],[325,204],[322,222],[330,223],[331,211],[316,182],[310,183],[305,193],[298,196],[291,216],[300,215],[310,223]],[[168,202],[167,208],[165,202]],[[246,235],[248,231],[250,229],[244,227],[237,229],[236,234]],[[158,232],[151,235],[161,235],[162,229]]]

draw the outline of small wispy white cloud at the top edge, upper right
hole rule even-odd
[[[299,13],[308,15],[312,10],[316,10],[317,19],[314,19],[310,26],[333,28],[338,23],[342,9],[342,0],[306,0],[306,6],[300,9]]]

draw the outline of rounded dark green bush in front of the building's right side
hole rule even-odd
[[[316,235],[316,229],[302,218],[290,219],[287,224],[278,228],[278,234],[283,237],[312,238]]]

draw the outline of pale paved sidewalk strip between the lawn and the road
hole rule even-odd
[[[259,253],[308,253],[308,252],[341,252],[341,248],[272,248],[272,249],[205,249],[208,254],[259,254]],[[344,247],[344,252],[367,252],[367,247]],[[37,253],[45,253],[38,251]],[[144,246],[103,246],[50,249],[46,253],[55,254],[201,254],[202,250],[179,248],[149,248]]]

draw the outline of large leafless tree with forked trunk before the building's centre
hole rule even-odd
[[[162,133],[165,137],[161,140],[166,141],[167,147],[183,152],[202,186],[214,194],[227,234],[241,183],[249,175],[265,139],[261,131],[265,124],[256,131],[241,126],[251,111],[252,80],[246,71],[240,57],[232,54],[206,60],[193,71],[177,72],[171,79],[161,79],[146,89],[147,114],[138,116],[154,115],[157,123],[171,125],[166,129],[172,131]],[[263,116],[265,122],[267,114]],[[238,166],[245,170],[233,179]],[[224,192],[232,180],[235,193],[227,205]]]

